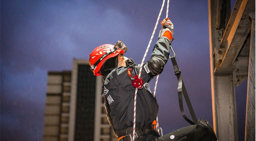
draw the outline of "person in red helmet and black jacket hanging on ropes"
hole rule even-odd
[[[174,141],[173,132],[162,137],[157,132],[155,120],[159,107],[148,86],[148,82],[163,71],[173,41],[171,20],[165,18],[161,21],[161,27],[158,41],[150,59],[143,64],[140,78],[138,74],[141,65],[136,65],[132,59],[123,55],[127,47],[121,40],[115,45],[100,45],[90,54],[91,71],[96,76],[103,76],[102,94],[105,97],[107,117],[118,141],[131,141],[132,139],[136,88],[138,90],[135,141]],[[196,131],[196,125],[185,128],[186,130],[189,128],[191,132]],[[179,131],[174,132],[180,134]],[[175,137],[175,139],[182,137]]]

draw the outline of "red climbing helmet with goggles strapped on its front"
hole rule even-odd
[[[100,68],[106,60],[117,56],[119,53],[124,54],[127,51],[127,47],[119,40],[115,45],[104,44],[98,46],[90,54],[89,63],[91,71],[95,76],[100,76]]]

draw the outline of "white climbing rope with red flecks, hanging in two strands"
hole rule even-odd
[[[140,67],[140,69],[139,69],[139,78],[140,78],[140,76],[141,76],[142,67],[143,67],[145,58],[146,58],[146,56],[147,56],[148,49],[149,49],[149,47],[150,47],[150,45],[151,45],[151,42],[152,42],[153,37],[154,37],[154,34],[155,34],[155,32],[156,32],[156,27],[157,27],[157,25],[158,25],[158,22],[159,22],[161,13],[162,13],[162,11],[163,11],[164,4],[165,4],[165,0],[163,0],[163,4],[162,4],[161,10],[160,10],[160,13],[159,13],[159,15],[158,15],[158,19],[157,19],[157,21],[156,21],[156,25],[155,25],[154,31],[153,31],[152,36],[151,36],[151,38],[150,38],[150,41],[149,41],[149,43],[148,43],[148,47],[147,47],[147,49],[146,49],[146,52],[145,52],[145,54],[144,54],[144,57],[143,57],[143,59],[142,59],[142,61],[141,61],[141,67]],[[168,17],[168,11],[169,11],[169,0],[168,0],[168,2],[167,2],[166,18]],[[157,76],[156,79],[157,79],[157,81],[158,81],[158,76]],[[156,85],[157,85],[157,81],[156,81]],[[155,95],[155,91],[156,91],[156,85],[155,85],[155,89],[154,89],[154,95]],[[138,88],[135,89],[135,94],[134,94],[134,127],[133,127],[132,141],[134,141],[134,139],[135,139],[135,122],[136,122],[136,98],[137,98],[137,91],[138,91]],[[158,124],[158,117],[157,117],[157,124]],[[158,132],[159,132],[159,130],[158,130]]]

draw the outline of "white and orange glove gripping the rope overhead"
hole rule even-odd
[[[159,32],[158,38],[160,38],[161,36],[165,36],[170,40],[170,42],[172,42],[173,41],[173,23],[169,18],[165,18],[163,19],[163,21],[161,21],[161,25],[162,25],[162,29]]]

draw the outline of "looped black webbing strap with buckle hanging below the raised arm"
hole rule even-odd
[[[191,105],[191,102],[189,100],[189,96],[187,95],[187,90],[185,88],[185,85],[184,85],[184,82],[182,80],[182,77],[181,77],[181,72],[178,68],[178,65],[177,65],[177,62],[176,62],[176,59],[175,57],[171,57],[171,60],[173,62],[173,67],[174,67],[174,72],[175,72],[175,75],[177,76],[178,78],[178,98],[179,98],[179,104],[180,104],[180,112],[183,116],[183,118],[188,122],[190,123],[191,125],[195,125],[197,123],[197,117],[195,115],[195,112],[193,110],[193,107]],[[190,112],[190,115],[192,117],[192,120],[191,121],[189,118],[187,118],[186,114],[185,114],[185,111],[184,111],[184,107],[183,107],[183,99],[182,99],[182,93],[184,95],[184,98],[186,100],[186,103],[187,103],[187,107],[189,109],[189,112]]]

